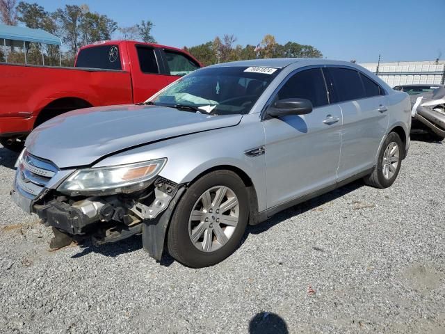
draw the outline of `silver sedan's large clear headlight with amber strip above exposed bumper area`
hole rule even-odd
[[[58,191],[63,193],[131,193],[144,189],[161,172],[166,158],[120,166],[79,169],[67,178]]]

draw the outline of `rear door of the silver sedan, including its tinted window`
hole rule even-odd
[[[350,67],[327,67],[331,102],[343,114],[339,180],[371,168],[388,127],[385,91],[371,78]]]

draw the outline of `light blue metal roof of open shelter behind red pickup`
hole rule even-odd
[[[0,39],[24,40],[43,44],[61,45],[62,41],[55,35],[42,29],[31,29],[24,26],[7,26],[0,24]]]

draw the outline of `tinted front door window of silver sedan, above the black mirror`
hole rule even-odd
[[[293,75],[277,93],[275,100],[306,99],[312,106],[324,106],[327,102],[325,79],[320,68],[303,70]]]

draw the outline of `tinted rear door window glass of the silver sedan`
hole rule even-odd
[[[341,67],[327,67],[326,70],[332,81],[331,103],[359,100],[366,97],[359,72]]]

